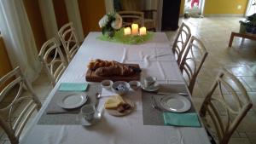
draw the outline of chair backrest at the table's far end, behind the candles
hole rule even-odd
[[[137,23],[139,26],[144,26],[144,13],[141,11],[119,11],[123,19],[123,26],[131,26],[132,23]]]

